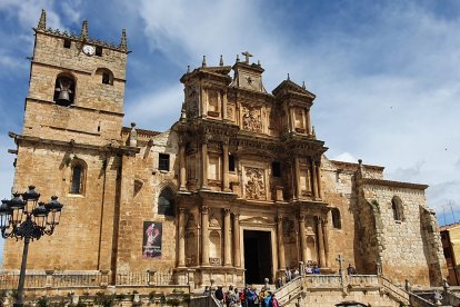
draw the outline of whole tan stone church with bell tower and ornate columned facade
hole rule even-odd
[[[13,189],[64,204],[56,234],[30,245],[28,269],[168,270],[196,287],[262,284],[299,263],[439,285],[444,259],[426,185],[383,167],[330,160],[310,113],[316,95],[289,78],[271,92],[243,52],[181,78],[168,131],[123,127],[127,34],[119,44],[34,29]],[[18,101],[17,101],[18,102]],[[154,106],[152,106],[154,108]],[[57,252],[59,250],[59,252]],[[3,269],[20,266],[6,240]]]

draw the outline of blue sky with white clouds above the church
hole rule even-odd
[[[21,131],[42,8],[51,28],[79,33],[87,19],[91,37],[117,43],[127,29],[124,125],[168,129],[188,65],[203,55],[209,66],[220,55],[232,65],[249,50],[267,90],[290,73],[317,95],[312,122],[328,158],[427,184],[440,222],[453,221],[451,207],[460,219],[459,1],[0,0],[0,197],[12,185],[8,131]]]

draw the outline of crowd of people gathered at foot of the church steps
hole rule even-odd
[[[209,295],[210,289],[204,289],[204,295]],[[228,291],[223,291],[219,286],[214,293],[216,299],[227,307],[280,307],[278,299],[270,288],[262,287],[258,293],[254,286],[247,285],[244,289],[239,290],[229,286]]]

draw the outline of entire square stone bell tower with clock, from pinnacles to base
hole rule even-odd
[[[58,231],[31,250],[71,246],[66,257],[31,252],[29,269],[114,271],[116,208],[121,199],[121,159],[138,152],[122,142],[126,63],[123,30],[119,44],[47,28],[43,10],[36,41],[17,143],[14,191],[33,184],[43,198],[57,195],[66,205]],[[126,189],[124,189],[126,190]],[[3,268],[19,267],[21,245],[6,242]]]

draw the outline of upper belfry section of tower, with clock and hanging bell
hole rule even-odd
[[[92,145],[120,138],[123,118],[127,36],[119,44],[47,29],[43,10],[26,98],[23,135]]]

